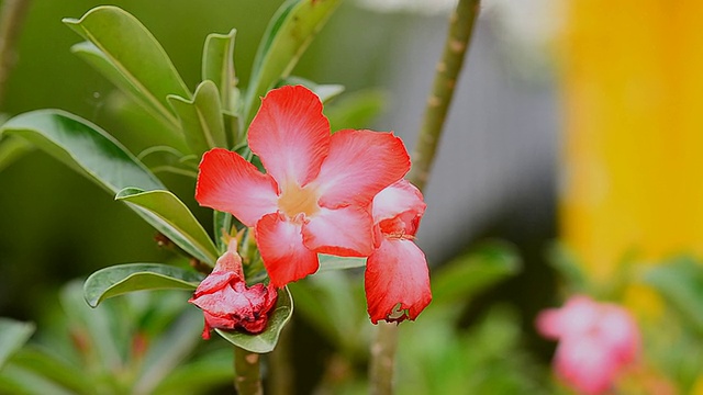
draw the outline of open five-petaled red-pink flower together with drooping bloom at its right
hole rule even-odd
[[[302,86],[270,91],[248,144],[266,172],[236,153],[202,158],[196,199],[253,228],[270,283],[319,269],[317,253],[368,257],[371,320],[414,319],[429,303],[424,253],[413,241],[425,204],[403,180],[410,157],[392,133],[331,134],[320,99]]]

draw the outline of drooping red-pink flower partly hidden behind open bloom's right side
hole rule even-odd
[[[377,248],[368,258],[365,274],[373,324],[415,319],[432,301],[427,261],[413,240],[424,212],[422,193],[406,180],[373,198]]]

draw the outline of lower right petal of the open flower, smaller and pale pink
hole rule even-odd
[[[368,257],[373,251],[373,221],[367,208],[321,207],[302,230],[303,242],[315,252]]]

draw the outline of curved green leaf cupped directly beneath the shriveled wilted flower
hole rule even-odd
[[[290,297],[288,287],[278,290],[278,301],[274,307],[274,313],[269,317],[266,330],[259,335],[252,335],[241,330],[223,330],[215,331],[230,341],[234,346],[241,347],[247,351],[265,353],[274,351],[278,338],[283,330],[288,320],[293,314],[293,300]]]

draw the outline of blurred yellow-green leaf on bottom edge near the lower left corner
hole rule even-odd
[[[94,386],[82,370],[40,348],[22,349],[12,363],[48,379],[75,394],[92,394]]]

